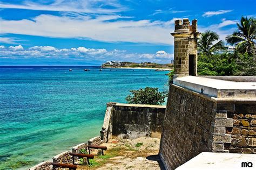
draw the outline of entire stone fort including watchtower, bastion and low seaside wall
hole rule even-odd
[[[201,152],[256,153],[256,78],[197,76],[197,20],[192,25],[188,19],[176,20],[171,34],[174,79],[166,107],[107,103],[100,136],[72,152],[112,138],[161,134],[159,155],[166,169],[177,168]],[[70,164],[71,158],[63,152],[53,162]],[[31,169],[47,166],[49,162],[43,162]]]

